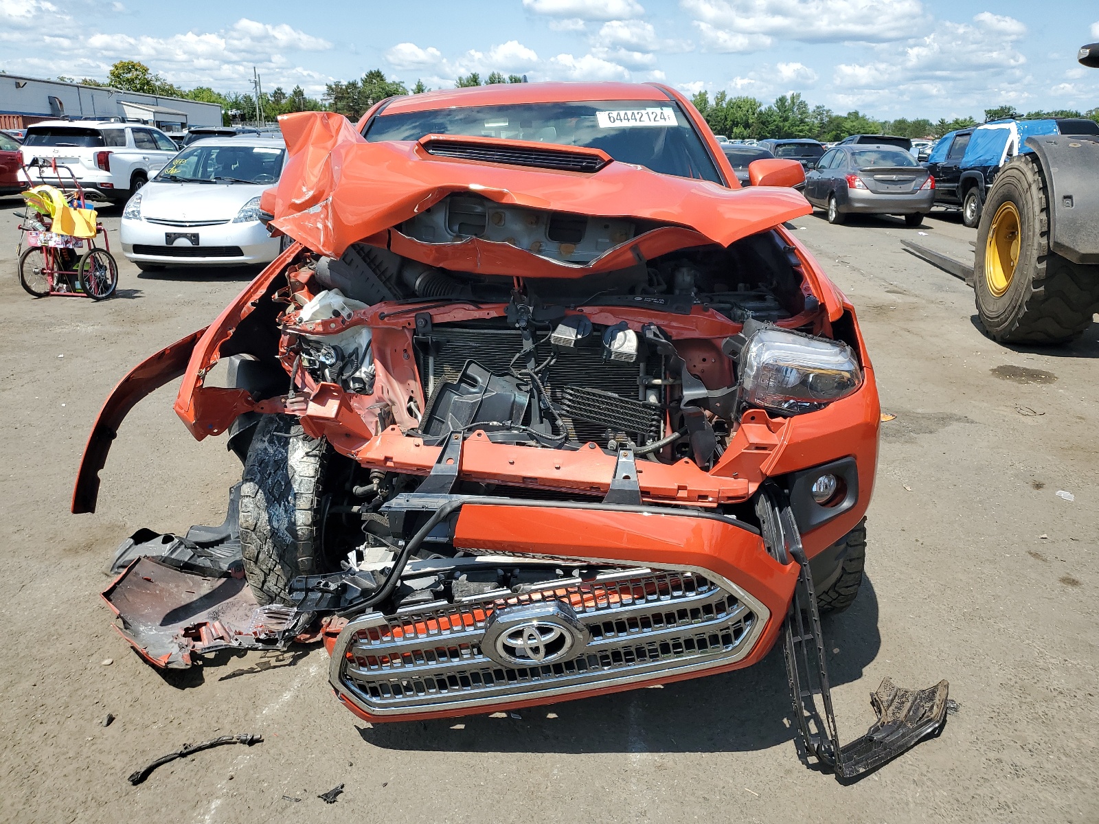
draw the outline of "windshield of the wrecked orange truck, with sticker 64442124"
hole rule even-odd
[[[371,120],[366,140],[418,141],[458,134],[601,148],[662,175],[722,182],[682,110],[668,101],[582,101],[437,109]]]

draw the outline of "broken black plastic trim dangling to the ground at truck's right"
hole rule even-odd
[[[779,560],[792,557],[800,566],[782,646],[798,725],[799,757],[806,762],[815,758],[821,768],[834,772],[841,781],[852,781],[891,761],[924,738],[939,735],[946,724],[950,684],[940,681],[924,690],[910,690],[886,678],[870,693],[878,720],[866,735],[840,746],[813,578],[797,523],[786,495],[774,487],[761,495],[757,512],[764,526],[764,539],[775,557]],[[818,699],[823,717],[817,709]]]

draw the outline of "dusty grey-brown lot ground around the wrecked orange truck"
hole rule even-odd
[[[886,675],[946,678],[961,706],[941,737],[841,787],[795,756],[775,654],[663,689],[373,727],[333,700],[317,647],[158,675],[111,630],[106,567],[137,527],[220,523],[240,465],[223,439],[191,439],[170,386],[126,420],[97,514],[68,513],[73,478],[113,383],[206,325],[251,272],[142,275],[123,261],[114,300],[33,300],[15,279],[18,205],[0,200],[12,310],[0,335],[12,435],[0,820],[1099,821],[1099,324],[1063,349],[985,338],[972,290],[900,246],[964,254],[974,232],[956,218],[796,222],[855,303],[896,415],[882,424],[867,580],[824,625],[841,737],[870,723],[867,695]],[[116,242],[118,210],[104,215]],[[186,742],[245,732],[264,743],[125,780]],[[334,804],[317,798],[341,783]]]

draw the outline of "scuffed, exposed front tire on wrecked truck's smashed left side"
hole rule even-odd
[[[329,447],[291,415],[264,415],[244,461],[241,553],[260,604],[288,603],[290,581],[319,569],[321,482]]]

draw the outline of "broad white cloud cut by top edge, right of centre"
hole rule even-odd
[[[910,37],[930,22],[920,0],[680,0],[679,4],[696,22],[710,26],[711,38],[720,31],[803,43],[884,43]]]

